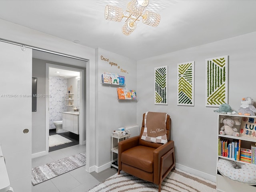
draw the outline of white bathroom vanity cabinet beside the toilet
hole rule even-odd
[[[78,134],[80,112],[62,112],[62,129]]]

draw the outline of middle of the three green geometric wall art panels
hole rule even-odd
[[[177,105],[194,106],[194,61],[177,64]]]

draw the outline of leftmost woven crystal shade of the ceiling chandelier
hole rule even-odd
[[[123,10],[120,7],[115,7],[112,5],[106,5],[105,8],[105,19],[110,21],[120,22],[123,18]]]

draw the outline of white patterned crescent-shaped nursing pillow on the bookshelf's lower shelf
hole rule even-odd
[[[220,158],[217,164],[222,176],[248,185],[256,185],[256,165]]]

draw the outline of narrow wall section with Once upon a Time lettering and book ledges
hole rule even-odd
[[[101,60],[101,56],[109,61]],[[117,66],[110,65],[110,62]],[[125,76],[126,88],[136,90],[136,61],[103,49],[96,50],[96,170],[110,166],[111,133],[120,127],[136,124],[136,101],[117,99],[118,86],[101,84],[101,74]],[[126,72],[121,72],[126,70]],[[137,95],[140,96],[140,93]]]

